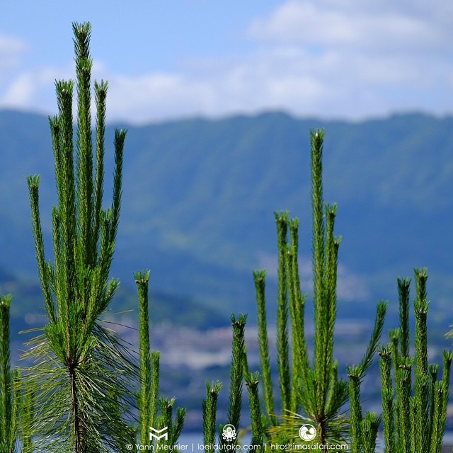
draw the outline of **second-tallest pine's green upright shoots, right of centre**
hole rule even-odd
[[[272,387],[270,377],[263,378],[265,408],[273,442],[287,439],[294,442],[301,421],[316,427],[316,442],[326,446],[329,442],[345,439],[348,420],[340,409],[352,399],[352,407],[360,406],[360,381],[367,372],[379,341],[386,304],[379,303],[374,330],[360,365],[350,374],[356,377],[356,386],[350,386],[338,378],[338,363],[333,359],[334,329],[336,322],[336,282],[338,248],[340,238],[334,235],[336,205],[323,202],[323,131],[311,131],[311,209],[312,209],[312,253],[314,281],[314,357],[310,364],[304,326],[306,296],[302,294],[297,263],[299,236],[297,219],[289,219],[287,212],[275,214],[278,246],[278,294],[277,294],[277,369],[280,377],[280,401],[282,402],[282,424],[275,426],[272,411]],[[290,236],[290,243],[287,236]],[[258,343],[264,375],[268,373],[269,351],[266,331],[263,271],[254,273],[256,300],[258,304]],[[288,302],[289,299],[289,302]],[[289,372],[288,316],[291,321],[292,360]],[[354,393],[355,392],[355,393]],[[299,414],[301,412],[301,414]],[[362,423],[358,411],[351,411],[351,423]],[[354,416],[357,415],[356,419]],[[365,428],[374,432],[379,424],[377,418],[368,415]],[[377,429],[377,428],[376,428]],[[360,430],[357,425],[357,430]],[[300,439],[299,439],[300,440]],[[367,443],[367,445],[372,445]]]

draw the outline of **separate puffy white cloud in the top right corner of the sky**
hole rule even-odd
[[[360,0],[290,0],[269,17],[253,21],[248,35],[268,42],[314,46],[314,50],[445,50],[453,30],[451,16],[439,14],[444,6],[446,1],[433,1],[427,7],[385,0],[379,6]]]

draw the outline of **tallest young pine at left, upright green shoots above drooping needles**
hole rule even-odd
[[[58,114],[50,118],[57,185],[57,206],[52,210],[53,263],[45,258],[40,178],[28,178],[35,251],[48,323],[42,334],[29,343],[28,356],[35,365],[27,370],[24,380],[35,397],[33,433],[38,451],[122,451],[125,442],[132,439],[128,426],[133,405],[131,379],[137,371],[120,339],[103,326],[101,316],[119,284],[109,280],[109,272],[120,217],[126,132],[115,132],[113,200],[105,210],[107,84],[103,81],[94,84],[97,114],[93,143],[90,24],[74,23],[73,30],[76,83],[56,82]]]

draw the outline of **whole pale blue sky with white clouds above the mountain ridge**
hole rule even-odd
[[[74,76],[72,21],[92,24],[110,122],[453,113],[451,0],[5,2],[0,108],[55,113],[55,79]]]

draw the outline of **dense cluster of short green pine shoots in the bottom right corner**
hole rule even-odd
[[[390,331],[391,343],[379,348],[382,385],[382,420],[386,453],[440,453],[447,417],[449,370],[452,352],[443,352],[442,379],[438,365],[428,365],[426,269],[415,269],[415,353],[409,355],[409,287],[411,279],[398,279],[399,328]],[[393,379],[391,369],[393,362]],[[357,369],[359,371],[357,371]],[[360,367],[349,369],[352,452],[374,452],[374,424],[362,420]],[[375,415],[372,415],[374,418]],[[370,418],[369,420],[372,420]]]

